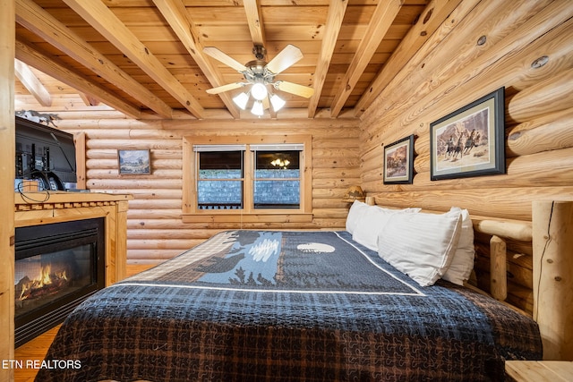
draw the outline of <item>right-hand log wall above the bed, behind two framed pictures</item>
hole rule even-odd
[[[464,1],[362,115],[362,187],[381,205],[530,222],[537,199],[573,199],[573,3]],[[430,180],[430,124],[506,88],[507,174]],[[412,184],[382,183],[383,147],[415,134]],[[477,234],[489,273],[491,236]],[[532,310],[531,244],[508,242],[508,300]],[[489,289],[478,276],[475,280]]]

